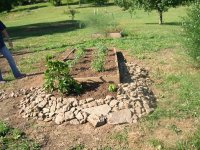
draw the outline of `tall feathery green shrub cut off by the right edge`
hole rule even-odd
[[[188,9],[187,16],[183,19],[183,31],[183,44],[187,53],[200,64],[200,3]]]

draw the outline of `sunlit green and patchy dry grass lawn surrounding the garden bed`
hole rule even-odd
[[[111,144],[103,145],[101,149],[200,149],[200,71],[181,46],[181,17],[186,14],[186,8],[170,9],[164,13],[165,24],[158,25],[156,12],[148,14],[138,10],[131,18],[128,12],[112,5],[71,7],[77,8],[79,13],[75,19],[82,23],[97,9],[113,13],[128,36],[93,39],[91,34],[95,31],[87,24],[81,28],[66,27],[63,24],[70,22],[70,17],[64,14],[67,6],[53,7],[41,3],[17,7],[10,13],[1,14],[0,19],[7,25],[13,39],[13,52],[34,52],[19,60],[20,69],[33,73],[38,70],[35,64],[45,55],[78,45],[89,47],[104,42],[107,46],[117,47],[149,68],[157,108],[138,125],[112,133],[108,137]],[[10,72],[6,76],[12,79]],[[13,84],[15,81],[9,86]],[[135,139],[137,142],[133,142]],[[87,144],[74,148],[83,147],[87,148]]]

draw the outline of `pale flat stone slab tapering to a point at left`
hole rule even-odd
[[[105,104],[105,105],[95,106],[91,108],[85,108],[82,111],[90,115],[92,114],[92,115],[97,115],[97,116],[101,116],[101,115],[106,116],[111,111],[111,108],[110,106]]]

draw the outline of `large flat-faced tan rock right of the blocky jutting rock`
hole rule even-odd
[[[113,112],[108,116],[108,124],[123,124],[132,122],[132,113],[129,109]]]

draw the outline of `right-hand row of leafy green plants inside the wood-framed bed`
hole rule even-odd
[[[105,70],[105,58],[106,58],[107,47],[102,43],[97,45],[97,50],[94,52],[94,59],[91,63],[91,68],[97,72]]]

